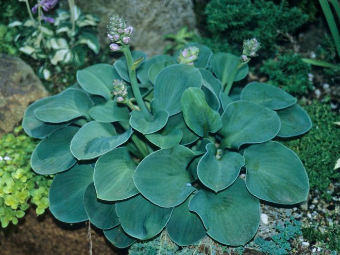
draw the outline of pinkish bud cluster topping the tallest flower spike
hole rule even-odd
[[[111,51],[121,50],[121,44],[129,44],[131,42],[131,35],[134,33],[132,26],[126,25],[127,21],[123,17],[115,15],[110,17],[110,23],[107,25],[107,37],[113,42],[110,45]]]

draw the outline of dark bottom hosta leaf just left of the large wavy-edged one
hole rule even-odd
[[[206,236],[206,230],[200,218],[189,211],[187,200],[173,208],[170,221],[167,224],[167,232],[172,241],[179,246],[192,245]]]

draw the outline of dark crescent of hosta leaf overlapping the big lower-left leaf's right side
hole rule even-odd
[[[93,183],[90,183],[85,190],[84,206],[88,219],[96,227],[110,229],[119,225],[116,204],[103,203],[98,200]]]

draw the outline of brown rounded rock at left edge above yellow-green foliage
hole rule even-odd
[[[46,96],[47,90],[28,64],[0,54],[0,136],[13,131],[31,102]]]

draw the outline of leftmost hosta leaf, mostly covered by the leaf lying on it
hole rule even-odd
[[[41,105],[51,102],[54,98],[55,96],[43,98],[27,107],[24,119],[22,120],[22,127],[27,135],[42,139],[51,135],[54,131],[69,125],[69,123],[47,123],[35,117],[34,110]]]

